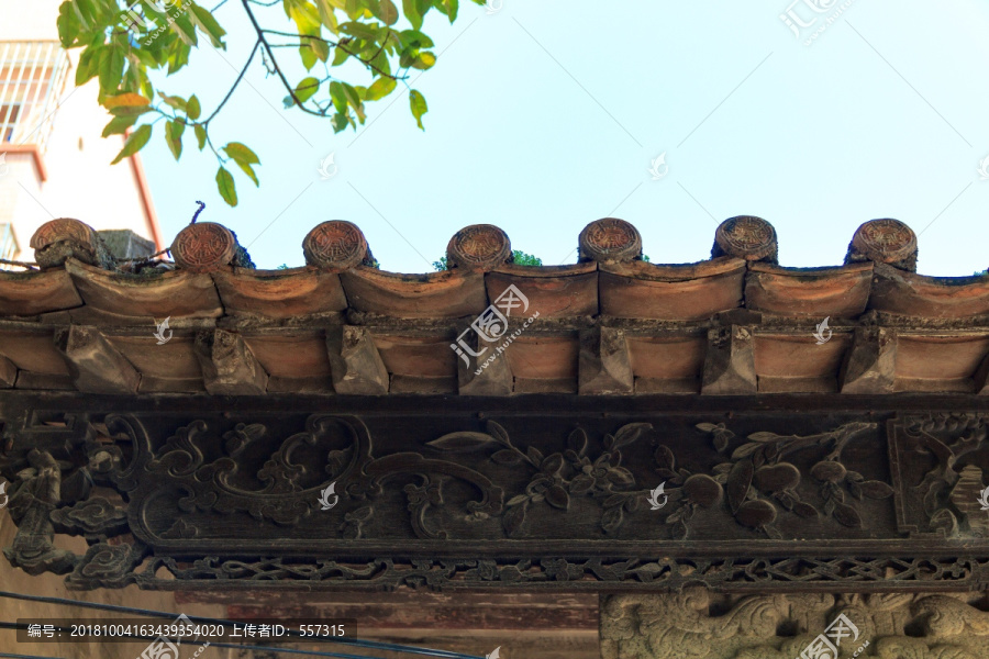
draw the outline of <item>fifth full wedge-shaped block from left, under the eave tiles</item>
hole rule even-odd
[[[580,332],[578,387],[581,394],[632,393],[635,378],[624,330],[591,327]]]

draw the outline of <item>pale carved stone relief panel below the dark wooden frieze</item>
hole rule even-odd
[[[601,601],[603,659],[982,659],[979,594],[670,594]]]

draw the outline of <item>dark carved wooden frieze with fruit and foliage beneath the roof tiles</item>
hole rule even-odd
[[[8,391],[0,422],[12,560],[73,588],[989,583],[982,395]],[[47,546],[53,523],[89,552]]]

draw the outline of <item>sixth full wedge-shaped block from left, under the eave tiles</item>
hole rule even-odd
[[[755,393],[757,389],[752,330],[742,325],[709,330],[701,393]]]

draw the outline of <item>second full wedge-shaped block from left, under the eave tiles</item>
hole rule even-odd
[[[268,373],[240,334],[224,330],[200,332],[196,357],[205,390],[214,395],[260,395]]]

